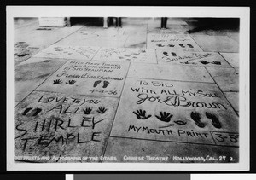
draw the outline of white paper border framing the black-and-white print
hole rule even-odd
[[[248,7],[7,6],[7,171],[249,171]],[[132,12],[132,13],[131,13]],[[240,18],[239,163],[15,163],[14,17],[226,17]],[[241,123],[242,122],[242,123]]]

